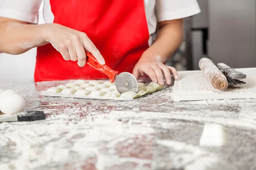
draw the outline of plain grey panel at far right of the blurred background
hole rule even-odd
[[[256,0],[208,0],[212,61],[256,67]]]

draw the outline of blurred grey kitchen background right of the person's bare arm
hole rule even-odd
[[[230,67],[256,67],[256,0],[198,0],[192,17],[192,61],[208,56]],[[203,46],[202,46],[203,45]]]

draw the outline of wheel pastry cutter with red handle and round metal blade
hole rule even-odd
[[[122,94],[128,91],[133,91],[137,93],[138,91],[138,82],[137,79],[128,72],[122,72],[118,74],[118,71],[114,71],[111,68],[109,68],[107,65],[101,65],[97,61],[97,59],[88,51],[85,51],[87,55],[86,63],[90,65],[91,67],[95,68],[96,70],[99,70],[100,72],[106,74],[110,82],[116,83],[116,90]]]

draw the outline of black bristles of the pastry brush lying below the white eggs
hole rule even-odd
[[[31,122],[46,119],[44,111],[27,111],[26,113],[17,114],[19,122]]]

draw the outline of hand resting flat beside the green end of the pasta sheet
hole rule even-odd
[[[178,73],[174,67],[166,66],[163,64],[161,57],[142,56],[134,67],[133,75],[138,79],[140,76],[147,74],[153,82],[158,82],[159,85],[163,85],[163,75],[166,80],[166,84],[172,83],[171,73],[175,79],[178,79]]]

